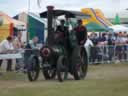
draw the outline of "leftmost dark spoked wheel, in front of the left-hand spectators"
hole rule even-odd
[[[29,81],[36,81],[39,77],[40,65],[39,60],[36,57],[29,59],[29,64],[27,66],[27,75]]]

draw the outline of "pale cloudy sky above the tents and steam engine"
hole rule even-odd
[[[29,0],[0,0],[0,11],[14,16],[22,11],[28,11]],[[39,13],[46,10],[47,5],[54,5],[56,8],[67,10],[80,10],[81,8],[99,8],[106,17],[114,17],[119,13],[122,17],[128,17],[128,0],[40,0],[41,8],[37,5],[37,0],[30,0],[29,11]]]

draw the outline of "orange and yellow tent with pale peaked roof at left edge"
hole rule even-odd
[[[0,41],[4,40],[7,36],[14,35],[14,28],[19,29],[26,29],[26,24],[17,21],[7,14],[0,12],[1,24],[0,24]]]

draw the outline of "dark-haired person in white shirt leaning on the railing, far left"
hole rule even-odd
[[[14,50],[12,42],[13,42],[13,38],[10,36],[8,36],[6,40],[3,40],[0,43],[0,54],[12,52]],[[12,71],[12,60],[8,59],[7,61],[8,62],[7,62],[6,71]],[[0,60],[0,67],[1,67],[2,62],[3,60]]]

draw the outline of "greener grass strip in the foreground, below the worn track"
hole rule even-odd
[[[42,86],[39,83],[33,83],[24,87],[3,88],[0,90],[0,96],[127,96],[128,94],[127,80],[53,83],[40,82]]]

